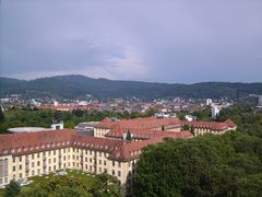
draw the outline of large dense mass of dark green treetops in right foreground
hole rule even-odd
[[[169,139],[140,158],[135,196],[259,196],[261,152],[262,139],[241,132]]]

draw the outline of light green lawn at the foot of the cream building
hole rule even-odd
[[[68,175],[66,176],[74,176],[83,181],[87,187],[91,187],[95,183],[95,176],[84,173],[82,171],[67,170]],[[31,190],[35,188],[38,184],[47,182],[53,174],[43,175],[43,176],[33,176],[28,177],[28,181],[33,181],[29,185],[22,186],[21,189],[24,192]],[[0,189],[0,197],[4,196],[4,189]]]

